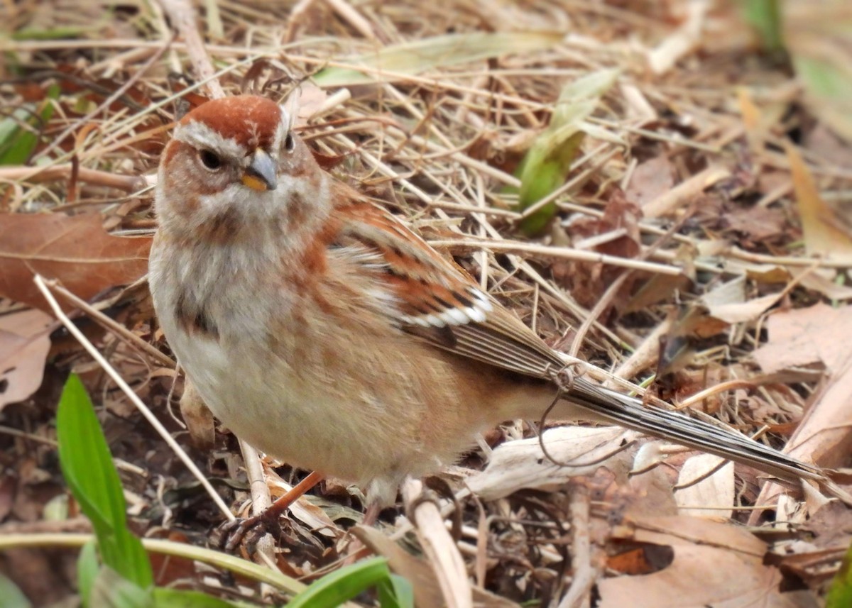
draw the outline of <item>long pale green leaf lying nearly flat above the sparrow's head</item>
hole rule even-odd
[[[320,87],[345,87],[377,80],[393,82],[399,79],[398,74],[419,74],[439,66],[551,49],[562,37],[559,32],[469,32],[421,38],[346,60],[352,67],[328,67],[313,79]],[[369,72],[359,70],[358,66]],[[375,73],[383,70],[393,74]]]

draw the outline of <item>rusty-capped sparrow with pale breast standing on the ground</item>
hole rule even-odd
[[[259,450],[394,502],[475,433],[614,422],[783,479],[819,471],[739,433],[566,376],[565,361],[387,210],[320,169],[257,96],[187,114],[166,146],[148,275],[204,402]],[[308,484],[309,485],[309,484]]]

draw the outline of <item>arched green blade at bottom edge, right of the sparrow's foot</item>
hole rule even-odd
[[[286,608],[337,608],[367,589],[389,581],[387,559],[365,559],[314,581],[301,594],[291,599]],[[387,592],[391,593],[392,589],[387,588]],[[392,604],[383,604],[386,605]]]

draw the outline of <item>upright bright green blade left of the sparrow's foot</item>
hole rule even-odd
[[[121,481],[95,409],[78,376],[69,376],[62,391],[56,434],[62,474],[95,528],[104,564],[139,587],[150,587],[151,563],[142,543],[127,529]]]

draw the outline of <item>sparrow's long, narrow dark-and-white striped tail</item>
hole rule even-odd
[[[662,410],[642,401],[574,378],[567,401],[593,411],[597,417],[660,439],[722,456],[755,467],[779,479],[796,482],[812,479],[832,485],[819,467],[781,454],[745,435],[681,412]],[[832,491],[832,494],[834,492]]]

